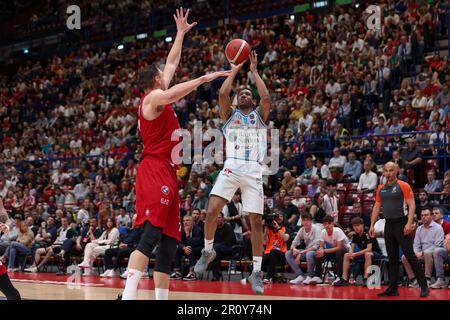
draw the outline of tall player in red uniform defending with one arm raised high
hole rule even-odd
[[[185,34],[196,23],[187,22],[189,10],[177,10],[174,19],[177,35],[167,57],[164,70],[152,64],[140,73],[140,84],[145,88],[139,106],[139,130],[143,140],[142,161],[136,177],[136,226],[144,231],[128,264],[128,277],[121,299],[135,300],[137,287],[149,257],[156,245],[154,268],[155,296],[167,300],[169,273],[177,243],[180,241],[180,198],[172,150],[180,142],[177,116],[171,103],[178,101],[203,83],[226,77],[231,71],[220,71],[170,87],[180,62]],[[169,88],[170,87],[170,88]],[[172,136],[177,136],[172,138]],[[175,140],[175,141],[174,141]],[[119,296],[120,298],[120,296]]]

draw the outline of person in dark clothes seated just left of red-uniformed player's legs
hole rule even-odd
[[[123,259],[128,258],[134,249],[136,249],[142,232],[144,231],[143,228],[135,228],[136,217],[137,215],[135,214],[133,216],[131,230],[127,234],[120,236],[118,246],[105,251],[105,256],[103,257],[105,272],[102,273],[100,277],[118,277],[118,269]],[[115,258],[114,262],[113,257]]]

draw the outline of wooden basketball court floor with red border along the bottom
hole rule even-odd
[[[122,292],[125,280],[120,278],[100,278],[99,276],[79,277],[56,276],[52,273],[10,273],[14,286],[24,299],[32,300],[114,300]],[[154,299],[152,279],[143,279],[139,285],[138,298]],[[330,285],[302,286],[290,284],[267,284],[265,295],[254,295],[249,284],[241,281],[206,280],[171,281],[169,299],[172,300],[285,300],[285,299],[362,299],[374,300],[376,294],[384,290],[370,290],[365,287],[332,287]],[[400,297],[390,300],[419,299],[419,289],[400,288]],[[450,290],[432,290],[428,300],[450,300]]]

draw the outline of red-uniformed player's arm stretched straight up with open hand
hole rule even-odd
[[[170,82],[172,81],[175,70],[180,63],[181,49],[183,48],[184,35],[197,25],[197,22],[189,24],[187,19],[189,17],[190,10],[188,9],[184,12],[183,8],[177,9],[176,14],[173,15],[175,22],[177,24],[177,35],[175,41],[170,49],[169,55],[167,56],[166,65],[163,70],[163,81],[165,88],[170,87]]]

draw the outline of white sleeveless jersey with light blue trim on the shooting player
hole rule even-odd
[[[224,168],[261,174],[267,153],[267,126],[258,110],[246,115],[236,108],[222,131],[226,140]]]

